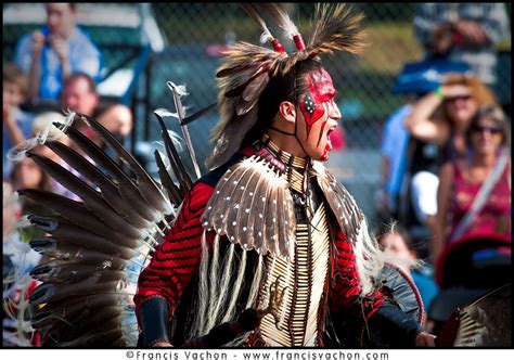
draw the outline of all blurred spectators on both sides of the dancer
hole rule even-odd
[[[503,3],[416,7],[413,27],[425,54],[404,64],[391,89],[406,101],[383,129],[383,188],[376,205],[394,226],[381,229],[377,239],[390,261],[417,285],[428,318],[425,326],[436,332],[448,311],[470,300],[465,288],[490,290],[501,284],[502,271],[510,267],[511,114],[492,90],[501,80],[494,76],[496,46],[510,36],[510,23]],[[28,281],[24,275],[41,258],[27,240],[44,235],[24,228],[23,216],[40,205],[17,198],[15,190],[39,189],[79,200],[13,149],[30,144],[30,153],[72,171],[34,141],[44,134],[73,146],[54,127],[65,123],[63,110],[92,116],[120,141],[133,126],[129,107],[97,92],[102,54],[76,25],[76,8],[46,4],[46,25],[20,39],[14,59],[3,64],[3,278],[14,279],[3,292],[4,301],[14,304],[4,316],[4,335],[14,329],[15,304],[27,296],[20,287]],[[41,103],[52,104],[53,111],[38,107]],[[105,146],[87,124],[72,126]],[[345,134],[334,137],[335,147],[344,147]],[[452,270],[455,266],[468,268],[459,272]],[[498,273],[496,282],[476,275],[487,267]],[[13,268],[23,273],[13,278]],[[454,273],[473,279],[452,279]],[[459,304],[442,296],[451,287],[464,288]],[[33,345],[37,342],[33,336]],[[4,345],[24,344],[4,336]]]

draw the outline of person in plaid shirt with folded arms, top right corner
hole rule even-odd
[[[496,83],[496,46],[511,33],[504,3],[420,3],[414,31],[427,56],[464,62],[483,82]]]

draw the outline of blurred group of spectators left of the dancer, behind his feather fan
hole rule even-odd
[[[47,3],[44,7],[46,24],[21,38],[14,59],[3,64],[3,301],[10,304],[3,317],[7,346],[38,345],[37,334],[27,330],[27,336],[17,336],[15,330],[26,298],[37,285],[29,271],[41,260],[28,241],[44,235],[27,228],[24,216],[50,211],[24,196],[18,197],[15,191],[38,189],[80,201],[44,172],[30,154],[46,156],[77,177],[80,175],[36,139],[52,139],[80,151],[54,125],[64,124],[67,112],[95,118],[121,142],[133,126],[130,107],[102,99],[97,91],[102,54],[77,26],[77,5]],[[72,126],[98,146],[105,146],[86,123],[74,121]]]

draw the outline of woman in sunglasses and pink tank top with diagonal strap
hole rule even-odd
[[[442,165],[439,173],[433,240],[436,262],[446,246],[464,236],[512,239],[510,126],[501,107],[480,106],[465,141],[466,156]]]

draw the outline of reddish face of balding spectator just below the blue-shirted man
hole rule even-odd
[[[75,112],[91,116],[98,101],[97,93],[91,91],[88,81],[83,78],[73,80],[63,89],[63,105]]]

